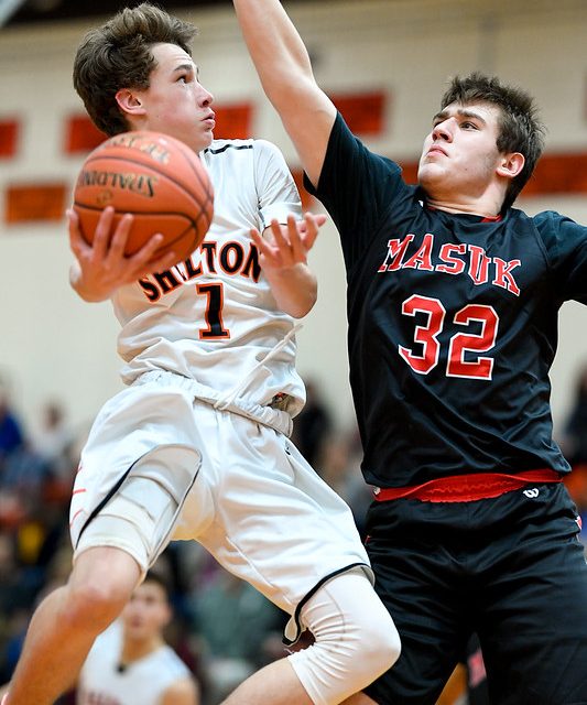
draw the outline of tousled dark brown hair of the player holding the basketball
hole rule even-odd
[[[124,8],[102,26],[90,30],[74,62],[74,87],[94,124],[117,134],[129,129],[116,101],[120,88],[149,88],[155,67],[153,44],[176,44],[189,56],[196,28],[150,2]]]

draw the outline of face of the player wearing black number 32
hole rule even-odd
[[[433,199],[474,202],[497,178],[499,109],[480,102],[452,104],[436,115],[424,140],[418,182]]]

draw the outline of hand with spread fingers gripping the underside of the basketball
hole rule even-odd
[[[76,257],[70,282],[75,291],[86,301],[104,301],[123,284],[130,284],[151,272],[160,272],[176,263],[177,256],[166,252],[155,257],[163,236],[157,234],[138,252],[124,256],[124,247],[132,226],[132,215],[124,215],[112,231],[115,210],[102,210],[94,243],[88,245],[79,229],[79,219],[73,208],[67,210],[69,246]]]

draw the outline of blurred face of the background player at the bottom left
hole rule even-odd
[[[122,610],[124,636],[137,641],[157,637],[171,617],[165,590],[154,582],[140,585]]]

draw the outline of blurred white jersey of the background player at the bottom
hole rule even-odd
[[[77,705],[161,705],[176,681],[191,677],[189,669],[163,646],[120,672],[122,626],[115,622],[91,648],[77,684]]]

